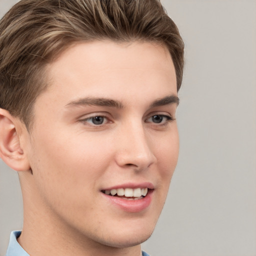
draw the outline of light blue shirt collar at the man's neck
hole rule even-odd
[[[21,231],[12,231],[10,234],[10,241],[5,256],[29,256],[27,252],[19,245],[17,238]],[[142,251],[142,256],[149,256],[146,252]]]

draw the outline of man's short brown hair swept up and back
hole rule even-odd
[[[159,0],[20,0],[0,21],[0,107],[28,128],[45,66],[70,44],[110,39],[167,46],[183,73],[183,41]]]

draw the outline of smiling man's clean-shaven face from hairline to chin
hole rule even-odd
[[[178,157],[167,49],[80,43],[47,70],[49,87],[35,101],[25,145],[30,210],[69,237],[141,243],[154,229]]]

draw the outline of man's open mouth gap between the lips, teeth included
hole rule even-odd
[[[138,188],[112,188],[109,190],[101,190],[102,193],[114,197],[119,197],[126,200],[138,200],[142,199],[147,195],[149,189],[147,187],[138,187]]]

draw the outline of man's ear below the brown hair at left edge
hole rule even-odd
[[[19,127],[17,127],[19,126]],[[30,168],[26,154],[20,146],[21,123],[7,110],[0,108],[0,158],[12,169],[28,170]]]

